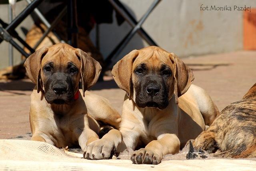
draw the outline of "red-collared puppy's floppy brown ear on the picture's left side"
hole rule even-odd
[[[33,54],[31,54],[24,63],[28,77],[37,86],[37,93],[39,93],[40,90],[42,90],[42,86],[40,83],[41,62],[42,58],[45,56],[47,52],[48,48],[44,46],[36,52],[34,52]]]

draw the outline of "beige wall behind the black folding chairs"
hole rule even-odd
[[[137,20],[146,12],[153,0],[121,0]],[[231,6],[232,11],[200,11],[204,6]],[[18,2],[16,14],[25,6],[26,1]],[[162,0],[143,24],[144,30],[162,48],[178,54],[180,57],[231,52],[243,48],[243,12],[234,11],[236,6],[256,7],[255,0]],[[6,5],[0,5],[0,17],[8,21]],[[113,14],[113,17],[115,14]],[[21,26],[30,28],[32,20],[28,17]],[[100,50],[104,57],[131,30],[124,22],[117,26],[114,17],[113,24],[100,24]],[[16,29],[24,37],[20,27]],[[90,34],[95,40],[95,30]],[[148,46],[138,34],[132,38],[119,58],[133,49]],[[8,66],[8,45],[0,44],[0,68]],[[14,50],[14,64],[20,62],[20,54]]]

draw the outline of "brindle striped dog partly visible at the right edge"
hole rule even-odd
[[[212,125],[190,142],[190,149],[203,149],[215,157],[256,157],[256,84],[242,100],[225,107]]]

